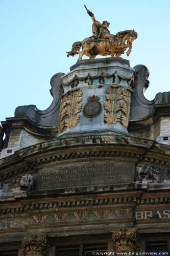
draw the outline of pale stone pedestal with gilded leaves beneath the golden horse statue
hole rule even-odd
[[[62,77],[58,137],[129,134],[134,69],[123,58],[81,60]]]

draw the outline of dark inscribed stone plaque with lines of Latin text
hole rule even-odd
[[[93,162],[44,168],[37,177],[37,190],[130,184],[134,182],[132,163]]]

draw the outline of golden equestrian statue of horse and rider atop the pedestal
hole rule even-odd
[[[67,52],[67,57],[79,54],[78,61],[82,59],[83,55],[90,59],[97,55],[120,57],[127,48],[129,49],[126,54],[129,56],[132,51],[132,42],[137,38],[137,32],[134,29],[124,30],[113,35],[108,29],[110,23],[107,20],[100,23],[95,19],[92,12],[87,8],[86,10],[93,21],[92,36],[85,38],[83,41],[74,42],[71,51]],[[82,51],[80,51],[81,48]]]

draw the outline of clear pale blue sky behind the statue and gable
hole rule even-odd
[[[0,120],[13,117],[18,105],[45,110],[52,102],[50,79],[69,72],[77,56],[66,56],[75,41],[91,35],[92,20],[84,4],[110,32],[135,29],[138,38],[131,67],[150,70],[147,98],[169,90],[169,0],[0,0]],[[87,57],[85,57],[87,58]]]

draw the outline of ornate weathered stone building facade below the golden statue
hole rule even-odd
[[[170,97],[145,99],[148,75],[81,60],[52,77],[47,110],[2,122],[0,254],[170,250]]]

